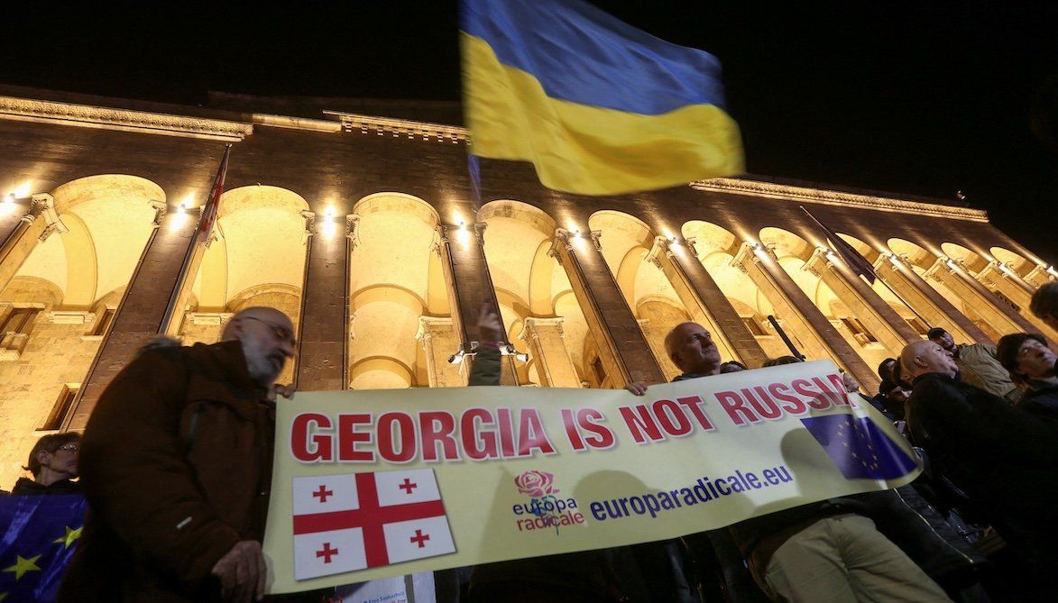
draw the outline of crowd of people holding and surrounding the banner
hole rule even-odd
[[[1058,282],[1041,287],[1030,310],[1058,329]],[[478,329],[470,384],[497,385],[498,314],[484,308]],[[672,329],[664,346],[682,371],[677,381],[751,370],[725,362],[694,323]],[[214,345],[152,343],[103,394],[84,436],[37,442],[25,467],[33,478],[12,495],[83,492],[90,504],[60,601],[263,598],[275,404],[292,394],[274,382],[294,347],[290,318],[271,308],[235,314]],[[923,457],[912,485],[674,541],[440,571],[438,600],[1050,600],[1058,587],[1055,365],[1038,333],[991,347],[933,328],[881,363],[875,396],[859,394]]]

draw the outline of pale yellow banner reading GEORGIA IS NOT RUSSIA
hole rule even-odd
[[[299,392],[276,421],[270,592],[676,537],[918,474],[829,361],[642,397]]]

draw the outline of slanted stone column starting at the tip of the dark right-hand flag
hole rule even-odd
[[[880,255],[874,262],[874,272],[926,318],[930,327],[943,327],[959,342],[996,343],[936,289],[923,280],[906,259],[895,255]]]

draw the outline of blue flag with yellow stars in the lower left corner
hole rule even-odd
[[[0,602],[55,601],[87,508],[79,494],[0,497]]]

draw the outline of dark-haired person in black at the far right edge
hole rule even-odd
[[[1047,341],[1037,333],[1003,335],[996,346],[996,355],[1010,371],[1010,380],[1025,389],[1018,407],[1048,420],[1058,420],[1058,357],[1047,347]]]

